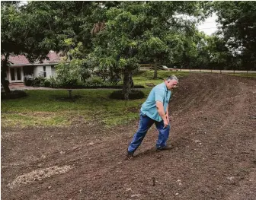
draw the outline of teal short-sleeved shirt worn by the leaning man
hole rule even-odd
[[[158,114],[158,110],[156,108],[155,102],[161,101],[164,105],[165,113],[167,110],[167,106],[169,100],[171,98],[171,91],[167,89],[165,83],[158,84],[149,93],[149,97],[142,104],[140,111],[149,118],[154,119],[155,121],[161,122],[163,119]]]

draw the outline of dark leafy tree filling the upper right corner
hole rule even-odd
[[[220,34],[233,54],[244,65],[256,64],[256,2],[215,2],[214,8],[222,25]]]

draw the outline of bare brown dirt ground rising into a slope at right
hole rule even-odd
[[[137,123],[2,129],[2,199],[256,199],[255,80],[194,74],[171,101],[171,151]]]

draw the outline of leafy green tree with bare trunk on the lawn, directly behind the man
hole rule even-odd
[[[143,2],[120,2],[118,7],[104,8],[104,22],[94,32],[94,54],[100,68],[123,71],[123,93],[128,98],[132,71],[138,67],[138,48],[145,30]]]

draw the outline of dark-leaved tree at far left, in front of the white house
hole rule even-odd
[[[51,40],[50,27],[42,13],[29,12],[19,2],[1,2],[1,82],[6,93],[10,92],[5,82],[9,56],[24,55],[30,62],[43,60],[55,43]]]

